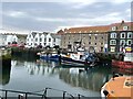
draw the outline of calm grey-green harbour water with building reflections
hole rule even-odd
[[[11,66],[6,66],[2,70],[0,87],[3,89],[39,91],[50,87],[85,97],[100,97],[100,89],[112,73],[111,68],[103,66],[84,70],[39,59],[12,59]],[[48,90],[48,96],[62,96],[62,91],[53,89]]]

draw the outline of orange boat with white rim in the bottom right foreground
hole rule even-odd
[[[114,76],[102,88],[102,99],[133,99],[133,77]]]

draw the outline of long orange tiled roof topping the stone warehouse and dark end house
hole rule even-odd
[[[64,33],[105,33],[112,31],[113,26],[116,26],[116,31],[123,31],[123,26],[129,26],[129,31],[133,31],[133,22],[122,21],[121,23],[112,23],[110,25],[70,28],[70,29],[65,29],[63,32]],[[60,31],[60,34],[64,34],[63,32]]]

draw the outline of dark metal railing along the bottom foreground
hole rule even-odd
[[[61,91],[62,92],[62,99],[66,98],[66,95],[70,96],[69,99],[89,99],[89,97],[85,97],[83,95],[76,94],[76,96],[73,96],[72,94],[69,94],[68,91],[64,90],[60,90],[60,89],[54,89],[54,88],[44,88],[42,90],[39,91],[33,91],[33,92],[28,92],[28,91],[19,91],[19,90],[8,90],[8,89],[0,89],[0,91],[3,92],[3,96],[0,96],[0,99],[10,99],[10,97],[8,96],[9,92],[13,92],[17,94],[17,99],[31,99],[31,95],[35,97],[38,97],[38,99],[51,99],[50,97],[48,97],[48,90],[55,90],[55,91]],[[38,94],[38,92],[42,92],[42,94]]]

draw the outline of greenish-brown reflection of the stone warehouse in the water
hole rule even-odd
[[[91,89],[100,91],[105,81],[109,80],[110,70],[106,73],[105,68],[95,68],[91,70],[84,70],[83,68],[70,68],[62,69],[59,74],[60,79],[70,84],[73,87],[81,87],[84,89]]]

